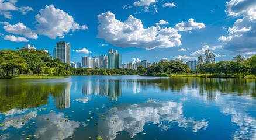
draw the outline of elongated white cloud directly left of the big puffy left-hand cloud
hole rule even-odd
[[[4,26],[4,29],[8,33],[24,35],[31,39],[37,39],[37,34],[20,22],[14,25],[8,24]]]

